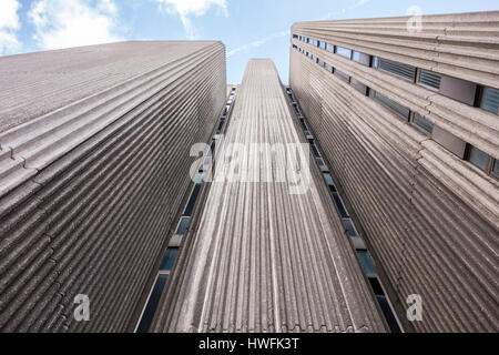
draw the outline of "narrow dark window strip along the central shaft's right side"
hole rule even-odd
[[[327,184],[327,186],[329,187],[329,192],[333,197],[333,201],[335,202],[338,213],[342,217],[343,225],[345,226],[345,233],[348,235],[348,237],[352,239],[353,245],[357,253],[358,261],[371,285],[373,292],[376,296],[376,300],[379,303],[383,314],[385,315],[385,318],[386,318],[391,332],[400,333],[401,332],[400,325],[395,316],[393,306],[390,305],[388,297],[386,296],[386,293],[381,286],[377,270],[375,267],[375,264],[373,262],[373,258],[371,258],[369,252],[367,251],[366,244],[364,243],[363,239],[357,233],[354,221],[352,220],[350,214],[348,213],[348,211],[343,202],[343,199],[336,189],[336,184],[333,180],[332,174],[329,173],[329,169],[326,166],[324,159],[323,159],[317,145],[315,144],[314,138],[312,136],[312,133],[308,129],[306,120],[302,114],[302,110],[299,109],[298,103],[296,102],[291,88],[287,88],[286,90],[287,90],[289,100],[291,100],[293,106],[295,108],[296,116],[298,118],[298,120],[303,126],[304,133],[305,133],[308,142],[310,143],[312,152],[317,161],[318,166],[323,171],[324,181]]]

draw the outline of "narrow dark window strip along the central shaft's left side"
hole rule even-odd
[[[222,113],[222,118],[218,121],[218,126],[215,131],[215,135],[220,134],[223,129],[223,125],[230,113],[231,106],[234,102],[235,91],[236,91],[236,88],[233,88],[231,91],[231,94],[227,100],[227,104],[225,105],[224,111]],[[207,153],[208,155],[214,153],[215,143],[216,143],[216,141],[215,141],[215,139],[213,139],[211,152]],[[210,158],[207,158],[207,160],[208,160],[208,163],[211,164],[212,160]],[[206,165],[203,165],[197,172],[197,175],[194,181],[194,187],[191,192],[191,195],[187,200],[184,212],[183,212],[183,214],[179,221],[179,224],[175,229],[175,234],[172,237],[172,240],[175,240],[179,242],[175,242],[175,243],[171,242],[171,244],[166,248],[166,253],[164,254],[163,260],[161,261],[161,264],[160,264],[160,270],[157,272],[157,276],[154,282],[154,286],[152,287],[152,291],[147,297],[147,302],[145,304],[142,316],[139,321],[139,324],[138,324],[138,327],[135,331],[136,333],[147,333],[149,328],[151,327],[157,305],[160,304],[161,296],[165,292],[166,282],[170,277],[170,273],[172,272],[173,266],[176,261],[176,257],[179,255],[180,241],[185,235],[185,233],[189,230],[189,225],[191,224],[192,213],[194,212],[194,206],[195,206],[197,197],[200,195],[201,187],[203,186],[205,168],[206,168]]]

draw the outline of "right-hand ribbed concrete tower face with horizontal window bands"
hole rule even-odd
[[[444,82],[499,89],[499,12],[421,20],[294,24],[291,87],[415,329],[498,332],[499,183],[449,141],[499,159],[499,119]]]

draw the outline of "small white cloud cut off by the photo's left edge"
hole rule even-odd
[[[0,0],[0,54],[13,53],[21,47],[17,38],[17,31],[21,28],[20,8],[17,0]]]

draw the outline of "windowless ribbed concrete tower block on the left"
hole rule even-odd
[[[0,58],[0,331],[133,331],[225,103],[220,42]],[[90,298],[77,323],[75,295]]]

